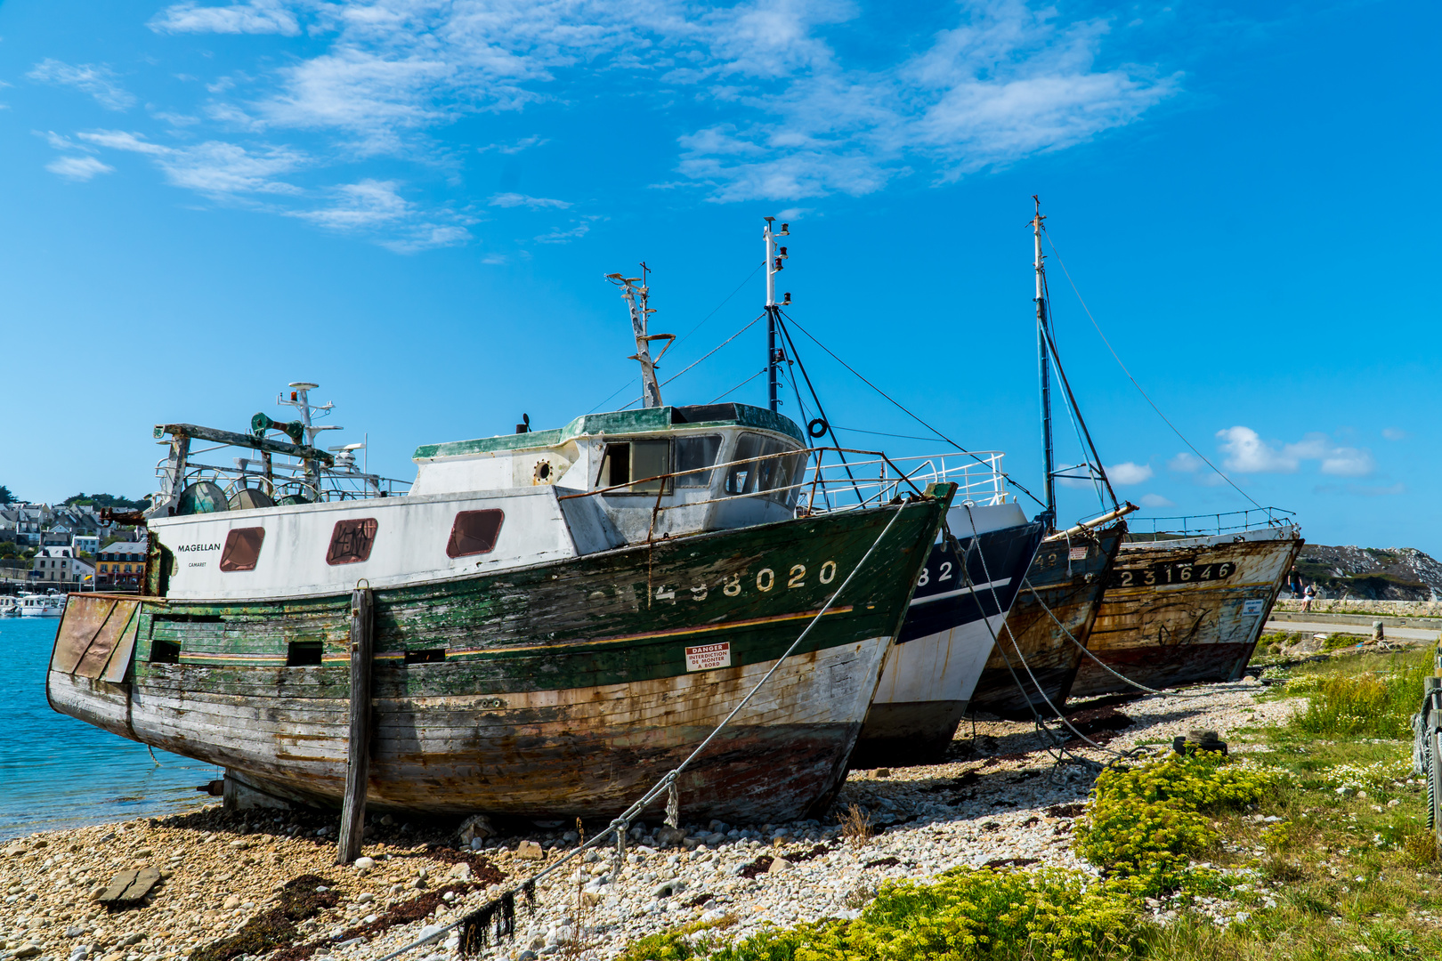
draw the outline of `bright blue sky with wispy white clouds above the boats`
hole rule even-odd
[[[760,311],[1040,473],[1030,195],[1195,447],[1322,543],[1442,552],[1438,81],[1423,3],[4,3],[0,483],[150,490],[151,424],[317,380],[372,468],[636,396],[604,274],[652,268],[662,373]],[[1410,37],[1423,37],[1420,43]],[[1126,380],[1056,258],[1118,491],[1247,506]],[[728,300],[730,298],[730,300]],[[757,324],[665,390],[764,402]],[[805,337],[842,439],[942,450]],[[609,395],[610,403],[603,403]],[[783,412],[799,416],[795,396]],[[862,434],[855,431],[874,431]],[[1061,458],[1076,460],[1058,416]],[[1093,510],[1063,490],[1063,516]]]

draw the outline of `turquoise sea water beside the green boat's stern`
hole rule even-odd
[[[0,839],[173,814],[211,803],[195,790],[215,765],[58,715],[45,671],[59,618],[0,618]],[[157,764],[159,761],[159,764]]]

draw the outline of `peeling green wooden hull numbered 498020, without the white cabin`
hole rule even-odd
[[[846,595],[679,781],[691,818],[803,815],[839,787],[943,509],[930,499],[376,591],[368,804],[613,817],[735,707],[900,510]],[[339,804],[348,595],[146,598],[133,624],[123,683],[65,670],[62,654],[87,641],[81,618],[62,624],[56,710],[283,798]],[[320,666],[286,666],[291,645],[317,641]]]

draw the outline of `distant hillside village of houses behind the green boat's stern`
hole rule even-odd
[[[36,504],[0,487],[0,594],[138,591],[144,532],[107,520],[102,511],[144,506],[111,494]]]

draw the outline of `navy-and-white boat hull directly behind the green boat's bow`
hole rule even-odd
[[[983,511],[1005,510],[1005,520]],[[937,764],[976,689],[986,657],[1017,599],[1043,526],[1015,504],[950,511],[957,543],[934,545],[897,643],[887,654],[852,768]],[[957,550],[959,547],[959,550]],[[965,562],[963,562],[965,559]]]

